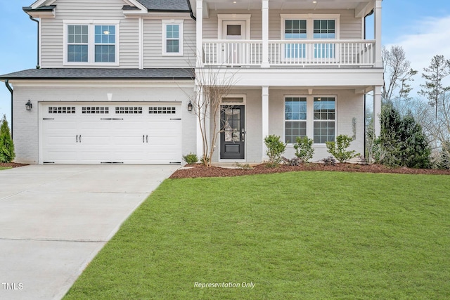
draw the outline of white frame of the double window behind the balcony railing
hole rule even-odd
[[[307,14],[281,14],[281,40],[283,41],[314,41],[314,20],[334,20],[335,21],[335,39],[327,39],[327,41],[337,41],[340,39],[340,14],[320,14],[320,13],[307,13]],[[306,20],[307,21],[307,38],[306,39],[285,39],[285,24],[286,20]],[[322,41],[319,39],[319,41]],[[322,43],[318,43],[322,44]],[[308,48],[308,46],[307,46]],[[314,60],[314,51],[307,51],[305,58],[285,58],[284,51],[282,53],[283,61],[290,60],[301,60],[308,61]],[[339,47],[335,48],[335,57],[334,58],[326,58],[326,60],[338,60],[340,57]]]

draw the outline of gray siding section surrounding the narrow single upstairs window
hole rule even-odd
[[[183,56],[162,56],[162,22],[143,21],[144,67],[195,67],[195,21],[184,19]]]

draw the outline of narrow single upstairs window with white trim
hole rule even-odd
[[[162,20],[162,55],[183,55],[183,20]]]

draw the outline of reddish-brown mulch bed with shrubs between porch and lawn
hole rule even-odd
[[[276,168],[266,167],[265,164],[259,164],[250,170],[230,169],[222,167],[204,167],[200,164],[186,165],[189,169],[180,169],[175,171],[170,178],[197,178],[197,177],[229,177],[254,174],[272,174],[291,171],[340,171],[340,172],[361,172],[361,173],[394,173],[394,174],[437,174],[450,175],[450,170],[437,169],[410,169],[406,167],[390,168],[380,164],[321,164],[307,163],[301,166],[288,166],[281,164]]]

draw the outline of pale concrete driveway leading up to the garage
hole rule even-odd
[[[0,171],[0,299],[61,299],[122,222],[178,168]]]

